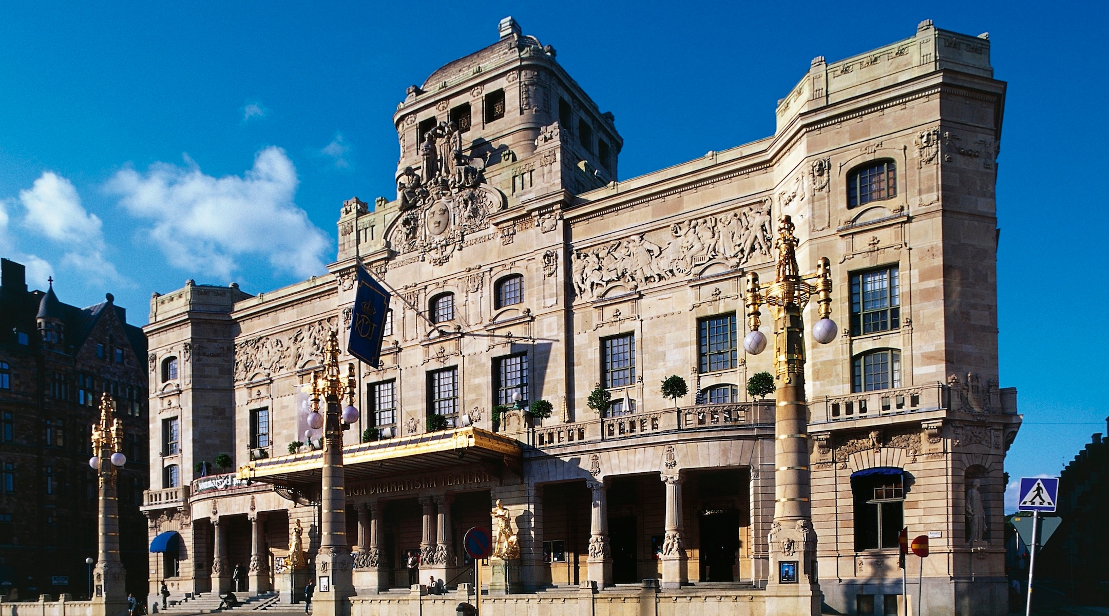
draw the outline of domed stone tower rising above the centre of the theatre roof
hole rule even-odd
[[[623,145],[602,113],[554,60],[508,17],[500,39],[408,88],[394,124],[401,207],[416,187],[472,184],[480,176],[512,207],[558,191],[582,193],[617,178]],[[406,198],[406,189],[408,192]]]

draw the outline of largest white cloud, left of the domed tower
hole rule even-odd
[[[330,243],[294,202],[296,168],[284,150],[262,150],[242,176],[216,178],[185,162],[124,170],[108,183],[129,213],[152,222],[146,232],[171,264],[228,278],[241,258],[261,256],[299,276],[324,271]]]

